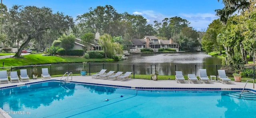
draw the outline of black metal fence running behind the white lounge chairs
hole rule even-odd
[[[30,65],[30,66],[16,66],[16,67],[0,67],[0,70],[7,70],[8,75],[10,71],[17,71],[20,75],[20,69],[27,69],[28,76],[32,78],[32,71],[37,69],[38,78],[41,77],[42,68],[48,68],[49,74],[52,77],[61,77],[66,72],[72,72],[73,75],[80,75],[82,63],[62,63],[49,65]],[[175,71],[182,71],[184,78],[187,79],[188,74],[199,75],[199,69],[206,69],[207,75],[217,76],[218,70],[225,70],[226,75],[234,80],[232,74],[239,70],[244,72],[241,81],[255,79],[255,67],[246,65],[134,65],[134,64],[113,64],[113,63],[87,63],[86,75],[92,75],[99,72],[101,69],[108,71],[122,71],[132,72],[133,79],[151,79],[151,74],[158,71],[158,79],[160,80],[174,80]],[[252,82],[252,81],[251,81]]]

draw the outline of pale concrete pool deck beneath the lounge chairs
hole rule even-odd
[[[52,77],[51,79],[60,80],[61,77]],[[16,83],[2,83],[0,87],[8,87],[12,85],[21,85],[25,83],[33,83],[38,81],[44,81],[42,79],[30,79],[30,81],[16,82]],[[126,79],[124,81],[108,80],[108,79],[92,79],[92,76],[73,76],[72,81],[84,82],[84,83],[94,83],[94,84],[104,84],[104,85],[119,85],[128,87],[161,87],[161,88],[244,88],[245,82],[234,82],[222,84],[219,81],[211,81],[209,83],[189,83],[188,81],[177,83],[174,80],[144,80],[144,79]],[[246,88],[256,90],[253,83],[247,83]],[[0,108],[0,110],[2,110]],[[9,115],[0,114],[0,118],[11,118]]]

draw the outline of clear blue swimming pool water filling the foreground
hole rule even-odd
[[[132,90],[51,81],[0,90],[0,108],[13,118],[256,118],[255,100],[227,92],[232,91]]]

